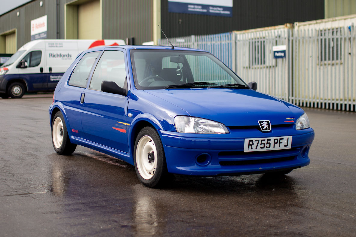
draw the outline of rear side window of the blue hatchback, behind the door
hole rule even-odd
[[[68,85],[85,88],[90,70],[93,67],[95,59],[99,56],[99,53],[100,52],[96,51],[84,54],[77,66],[75,66],[72,75],[70,75]]]

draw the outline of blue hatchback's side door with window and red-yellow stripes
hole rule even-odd
[[[120,49],[105,50],[95,67],[90,84],[84,90],[82,125],[89,141],[129,153],[127,142],[127,106],[129,96],[101,91],[103,80],[127,87],[127,60]]]

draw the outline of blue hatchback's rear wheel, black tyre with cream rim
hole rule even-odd
[[[61,155],[70,155],[77,148],[77,144],[69,140],[67,126],[60,111],[54,115],[52,120],[52,144],[54,150]]]

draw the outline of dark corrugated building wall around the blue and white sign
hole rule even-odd
[[[233,0],[232,17],[168,12],[168,0],[161,0],[162,29],[168,37],[215,34],[323,18],[324,0]]]

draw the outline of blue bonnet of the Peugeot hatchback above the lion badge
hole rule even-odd
[[[271,124],[295,123],[303,110],[272,96],[248,89],[146,90],[188,112],[190,116],[226,126],[253,126],[258,120]]]

